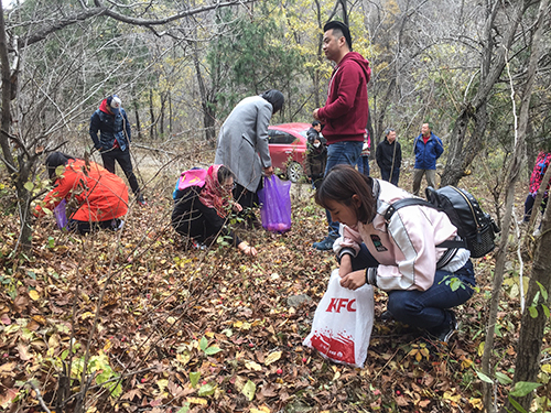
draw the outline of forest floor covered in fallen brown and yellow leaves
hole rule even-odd
[[[401,177],[407,188],[410,178],[408,172]],[[469,180],[462,184],[479,197]],[[333,253],[312,249],[326,221],[307,185],[293,185],[289,232],[240,232],[259,250],[250,259],[223,244],[183,248],[170,226],[172,181],[148,192],[147,207],[132,204],[119,232],[79,237],[58,230],[52,219],[40,220],[32,258],[10,256],[18,220],[1,216],[0,407],[42,412],[42,402],[60,412],[80,404],[85,412],[483,410],[477,371],[491,254],[474,260],[478,290],[457,308],[460,332],[447,345],[380,320],[387,295],[376,290],[365,367],[335,365],[302,344],[337,267]],[[6,196],[0,202],[7,205]],[[510,391],[516,358],[517,265],[512,251],[494,346],[497,404]],[[530,262],[525,265],[529,275]],[[288,298],[301,294],[311,300],[291,306]],[[550,343],[548,329],[548,360]]]

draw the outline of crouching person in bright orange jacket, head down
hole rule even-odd
[[[58,169],[63,166],[64,170]],[[77,209],[69,216],[69,228],[79,233],[95,229],[119,229],[120,217],[128,211],[128,187],[119,176],[111,174],[95,162],[86,162],[61,152],[46,157],[50,178],[54,188],[44,203],[37,205],[34,215],[45,215],[44,208],[54,210],[62,199],[75,199]],[[61,173],[60,173],[61,172]]]

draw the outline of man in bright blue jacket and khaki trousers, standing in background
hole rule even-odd
[[[421,134],[413,142],[413,152],[415,153],[413,195],[419,196],[423,175],[426,175],[426,185],[436,188],[436,160],[444,152],[444,144],[432,133],[431,123],[422,124]]]

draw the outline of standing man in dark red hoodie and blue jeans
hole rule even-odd
[[[328,145],[327,174],[335,165],[356,165],[361,154],[369,111],[367,83],[371,68],[359,53],[352,52],[350,31],[346,24],[331,21],[323,31],[323,51],[325,57],[335,62],[335,68],[325,106],[315,109],[312,115],[324,124],[323,135]],[[331,250],[338,238],[338,222],[331,220],[329,213],[327,221],[328,235],[322,241],[314,242],[315,249]]]

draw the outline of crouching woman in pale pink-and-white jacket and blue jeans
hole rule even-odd
[[[388,207],[412,195],[347,165],[331,170],[315,197],[341,222],[333,247],[341,261],[341,285],[378,286],[388,293],[395,319],[447,341],[457,329],[451,308],[465,303],[476,285],[469,251],[439,248],[457,238],[447,216],[411,205],[397,209],[387,222]]]

